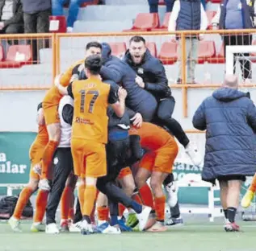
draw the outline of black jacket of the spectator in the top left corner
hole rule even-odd
[[[20,0],[13,0],[13,17],[4,22],[5,27],[14,23],[23,23],[23,6]],[[5,0],[0,0],[0,20],[2,20],[2,8]]]

